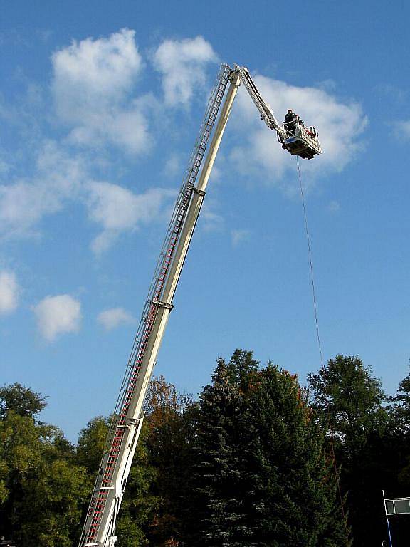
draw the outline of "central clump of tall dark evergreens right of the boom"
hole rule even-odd
[[[186,544],[346,546],[325,433],[296,377],[236,350],[212,380],[200,396]]]

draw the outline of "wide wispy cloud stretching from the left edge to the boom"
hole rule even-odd
[[[155,222],[175,195],[174,190],[149,189],[135,194],[109,182],[93,182],[81,155],[70,155],[56,142],[45,142],[38,152],[32,179],[0,184],[0,237],[38,234],[44,217],[83,202],[91,221],[102,226],[93,250],[108,249],[122,231]]]

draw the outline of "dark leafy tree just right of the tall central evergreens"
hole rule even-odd
[[[380,496],[382,489],[393,487],[392,471],[400,459],[381,382],[362,360],[343,355],[308,375],[308,381],[314,405],[331,424],[354,541],[377,543],[385,529]]]

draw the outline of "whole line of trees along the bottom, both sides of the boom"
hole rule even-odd
[[[333,449],[354,545],[381,543],[382,489],[410,491],[410,374],[385,405],[372,369],[337,355],[309,387],[310,402],[297,377],[239,349],[199,403],[154,377],[117,546],[347,547]],[[45,405],[17,383],[0,389],[0,536],[19,547],[78,542],[107,437],[96,417],[73,447],[38,422]],[[398,547],[405,524],[391,524]]]

